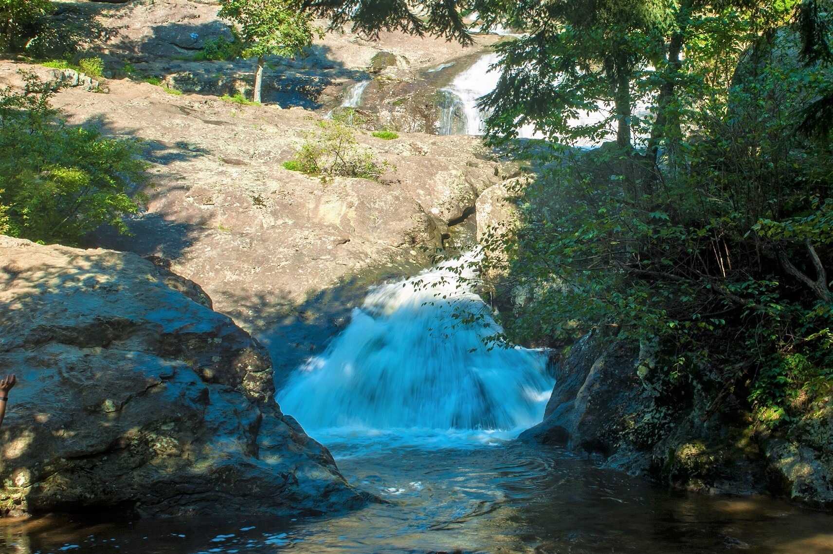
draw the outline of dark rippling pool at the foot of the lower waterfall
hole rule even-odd
[[[390,501],[303,521],[0,522],[0,552],[833,552],[833,516],[767,498],[669,492],[559,449],[471,440],[331,443]]]

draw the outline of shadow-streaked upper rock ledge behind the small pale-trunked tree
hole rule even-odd
[[[83,52],[102,57],[107,77],[125,77],[128,63],[131,72],[161,78],[183,92],[247,93],[252,88],[252,60],[199,59],[207,44],[234,40],[226,22],[217,18],[217,4],[215,0],[67,2],[52,16],[52,24],[84,29],[81,37],[77,31],[70,32],[63,42],[81,41]],[[327,24],[317,22],[322,28]],[[382,32],[378,41],[369,41],[348,28],[341,31],[317,39],[297,59],[268,57],[264,101],[329,109],[337,105],[348,82],[372,75],[409,80],[421,68],[464,52],[456,42],[441,38]],[[495,36],[477,37],[481,45],[496,40]],[[63,53],[52,52],[52,57]]]

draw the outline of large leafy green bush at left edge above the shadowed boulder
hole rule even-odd
[[[0,232],[77,244],[137,212],[130,188],[144,180],[139,144],[72,127],[50,107],[53,92],[23,73],[25,92],[0,91]]]

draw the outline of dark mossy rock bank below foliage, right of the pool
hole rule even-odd
[[[558,364],[544,421],[521,440],[561,444],[672,487],[769,493],[833,508],[833,402],[769,432],[749,427],[731,394],[720,407],[699,386],[662,397],[659,371],[646,345],[617,340],[615,330],[592,332]]]

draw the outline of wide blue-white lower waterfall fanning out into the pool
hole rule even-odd
[[[500,327],[456,277],[454,264],[470,261],[373,287],[327,351],[278,392],[282,410],[307,431],[519,431],[540,422],[553,385],[546,356],[483,342]],[[484,319],[466,326],[461,311]]]

